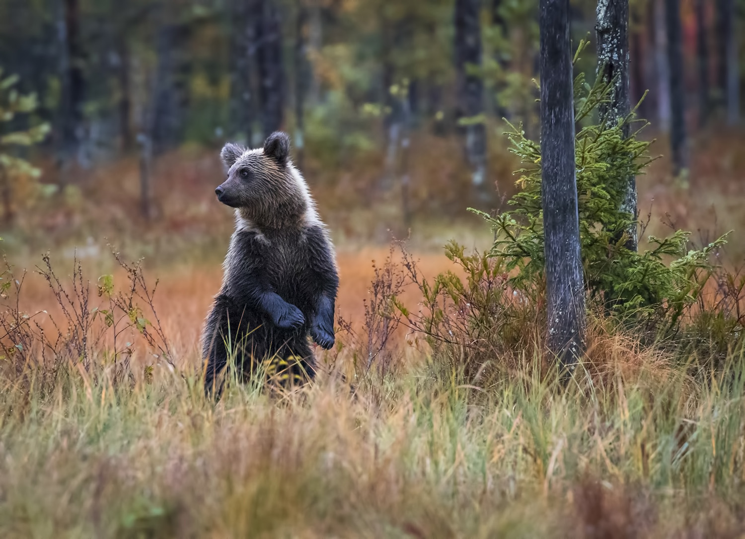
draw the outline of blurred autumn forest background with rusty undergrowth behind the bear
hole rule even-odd
[[[537,4],[2,0],[0,99],[16,103],[0,122],[5,246],[95,250],[106,236],[137,255],[222,255],[218,148],[279,129],[338,244],[488,241],[466,207],[515,189],[503,118],[539,136]],[[571,1],[590,83],[596,5]],[[638,115],[665,156],[639,179],[648,232],[743,229],[745,0],[630,9],[631,100],[648,90]]]

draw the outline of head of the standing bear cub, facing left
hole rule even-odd
[[[290,137],[272,133],[264,147],[247,150],[231,142],[220,153],[227,179],[215,189],[218,200],[238,208],[257,226],[287,226],[311,205],[308,189],[289,159]]]

